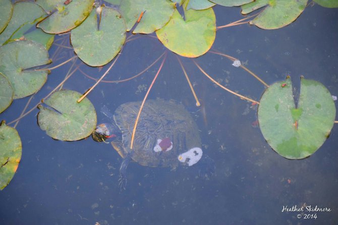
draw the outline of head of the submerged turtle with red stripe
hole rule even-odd
[[[92,133],[92,138],[97,142],[105,141],[108,138],[112,138],[112,140],[114,138],[120,139],[121,137],[121,130],[114,123],[99,124]]]

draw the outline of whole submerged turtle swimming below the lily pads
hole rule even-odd
[[[198,167],[200,177],[213,174],[214,161],[202,151],[196,122],[175,100],[158,98],[145,101],[131,149],[132,132],[140,106],[141,102],[124,103],[114,115],[107,107],[102,107],[102,113],[111,123],[98,125],[92,133],[95,141],[109,138],[111,145],[122,156],[121,189],[126,188],[126,170],[130,161],[151,167],[194,166]]]

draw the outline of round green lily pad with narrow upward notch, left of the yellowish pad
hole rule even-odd
[[[72,30],[71,41],[79,58],[89,66],[109,63],[119,53],[126,40],[126,23],[114,9],[99,7],[101,19],[97,26],[93,10],[81,26]]]

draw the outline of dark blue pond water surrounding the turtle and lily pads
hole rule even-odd
[[[214,7],[217,25],[241,19],[239,8]],[[291,25],[262,30],[241,25],[217,31],[212,49],[238,58],[268,84],[290,75],[299,93],[300,76],[325,85],[338,95],[338,11],[307,7]],[[130,34],[128,34],[130,35]],[[69,37],[65,45],[69,45]],[[106,80],[131,77],[165,51],[147,35],[128,42]],[[62,43],[63,40],[55,40]],[[52,55],[58,49],[53,45]],[[74,55],[62,48],[62,62]],[[182,59],[202,107],[193,95],[172,52],[150,92],[157,97],[181,101],[199,127],[204,152],[214,159],[216,171],[209,179],[197,177],[194,166],[177,170],[131,163],[127,188],[118,186],[122,161],[110,144],[91,138],[75,142],[51,139],[40,130],[35,109],[17,126],[23,151],[18,171],[0,192],[1,224],[336,224],[338,221],[338,126],[312,156],[288,160],[275,153],[255,126],[257,108],[215,87],[190,59]],[[232,61],[206,53],[196,62],[218,82],[259,100],[264,86]],[[30,107],[39,102],[66,76],[72,63],[55,69]],[[80,61],[77,62],[80,64]],[[101,83],[88,98],[100,113],[112,112],[125,102],[143,99],[160,62],[128,82]],[[81,70],[98,78],[97,68]],[[63,86],[85,92],[93,81],[77,71]],[[24,108],[27,98],[15,100],[0,117],[10,122]],[[337,105],[337,103],[335,102]],[[29,107],[29,108],[30,108]],[[15,112],[15,113],[14,113]],[[337,119],[336,119],[337,120]],[[314,219],[298,219],[299,212],[284,207],[318,206],[330,212],[312,212]],[[304,217],[306,208],[301,215]]]

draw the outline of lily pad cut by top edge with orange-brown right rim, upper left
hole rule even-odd
[[[65,1],[66,2],[66,1]],[[93,9],[94,0],[73,0],[68,5],[59,4],[45,20],[37,24],[44,32],[60,34],[67,32],[84,21]]]

